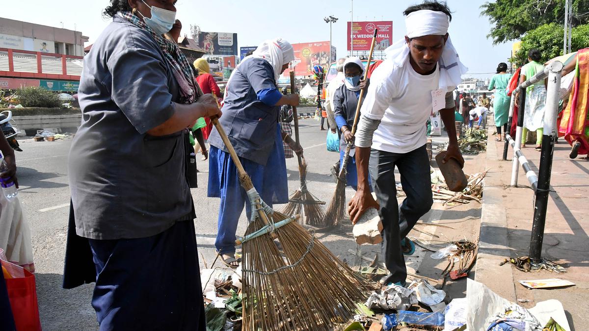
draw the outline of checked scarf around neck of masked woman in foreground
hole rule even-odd
[[[135,27],[149,32],[151,37],[155,39],[155,42],[160,45],[161,51],[164,53],[164,59],[172,67],[172,72],[180,87],[180,103],[191,104],[194,102],[199,90],[194,80],[194,72],[192,71],[192,67],[190,67],[190,62],[188,62],[182,51],[180,51],[178,44],[157,34],[145,24],[143,19],[136,16],[133,12],[121,11],[120,15],[135,25]]]

